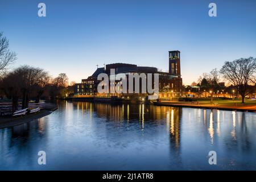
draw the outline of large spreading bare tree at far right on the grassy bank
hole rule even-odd
[[[248,83],[255,79],[256,59],[249,57],[234,61],[226,61],[221,71],[223,77],[231,82],[237,92],[242,97],[242,103],[245,103],[245,96],[250,93]]]

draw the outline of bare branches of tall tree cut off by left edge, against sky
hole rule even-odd
[[[15,60],[16,53],[10,51],[9,40],[3,37],[3,32],[0,32],[0,71],[5,70]]]

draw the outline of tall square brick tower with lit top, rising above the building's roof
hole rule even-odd
[[[180,51],[169,51],[169,73],[180,78]]]

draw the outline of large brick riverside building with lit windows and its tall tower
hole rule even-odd
[[[114,63],[107,64],[106,68],[97,68],[92,76],[89,76],[86,79],[82,79],[81,83],[75,84],[74,93],[75,96],[86,96],[86,95],[94,95],[94,96],[136,96],[137,94],[130,93],[109,93],[109,94],[99,94],[97,92],[97,86],[101,82],[101,80],[97,80],[97,77],[100,73],[106,73],[110,75],[110,69],[115,69],[115,74],[125,73],[125,75],[129,75],[130,73],[159,73],[159,77],[166,77],[167,79],[164,82],[161,82],[159,79],[159,85],[162,85],[166,88],[166,93],[170,92],[175,94],[175,96],[180,96],[182,89],[182,78],[180,75],[180,51],[170,51],[169,52],[169,72],[159,72],[157,68],[154,67],[139,67],[135,64],[126,64],[126,63]],[[117,84],[116,81],[115,84]],[[127,80],[128,84],[129,80]],[[109,89],[115,88],[115,85],[109,85]],[[127,88],[129,86],[127,85]],[[141,88],[141,87],[140,87]],[[118,89],[118,88],[115,88]],[[164,93],[164,94],[166,94]],[[160,93],[161,94],[161,93]],[[139,94],[139,96],[146,96],[147,94]],[[162,96],[164,97],[163,93]],[[167,97],[170,97],[168,94]]]

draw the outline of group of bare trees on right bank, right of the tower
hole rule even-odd
[[[221,78],[224,78],[225,82],[236,89],[242,98],[242,103],[245,103],[245,97],[255,92],[256,59],[249,57],[225,61],[219,71],[215,68],[209,73],[203,73],[203,76],[199,77],[198,83],[193,82],[192,85],[200,86],[200,89],[210,93],[212,98],[214,92],[222,89],[222,86],[218,84]]]

